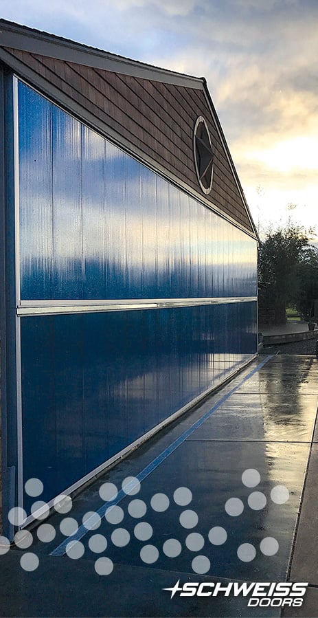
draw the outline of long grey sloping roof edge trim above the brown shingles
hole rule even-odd
[[[104,69],[113,73],[122,73],[133,77],[154,80],[187,88],[203,90],[203,78],[161,69],[117,56],[102,49],[76,43],[68,38],[41,32],[35,28],[19,25],[12,21],[0,19],[0,46],[20,49],[23,52],[49,56],[65,62],[86,65],[95,69]]]

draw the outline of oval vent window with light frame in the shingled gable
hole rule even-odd
[[[213,178],[213,150],[209,129],[202,116],[199,116],[194,125],[193,134],[194,163],[196,175],[204,193],[209,193]]]

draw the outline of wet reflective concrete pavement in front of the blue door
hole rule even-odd
[[[286,580],[310,589],[284,616],[318,615],[317,400],[315,357],[258,357],[0,555],[0,615],[275,617],[163,588]]]

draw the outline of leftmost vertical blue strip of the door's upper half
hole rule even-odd
[[[21,298],[52,298],[52,104],[19,82]]]

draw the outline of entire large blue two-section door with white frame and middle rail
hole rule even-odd
[[[23,526],[27,481],[52,505],[255,355],[257,282],[248,234],[13,80],[6,499]]]

